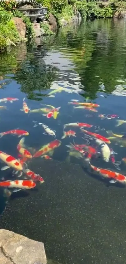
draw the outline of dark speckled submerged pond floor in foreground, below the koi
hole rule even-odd
[[[124,264],[126,188],[107,187],[78,164],[38,159],[35,167],[45,182],[8,202],[0,228],[42,241],[61,263]]]

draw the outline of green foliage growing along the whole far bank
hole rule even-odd
[[[46,18],[48,19],[49,13],[52,13],[57,20],[58,27],[61,27],[62,19],[70,21],[76,15],[77,11],[80,12],[82,18],[111,18],[114,14],[120,14],[126,10],[125,1],[110,0],[104,5],[103,2],[86,1],[86,0],[36,0],[33,2],[34,6],[42,4],[48,7]],[[8,43],[15,45],[22,41],[17,28],[12,18],[14,16],[22,18],[26,25],[26,37],[28,40],[34,36],[33,25],[30,19],[23,15],[20,11],[14,11],[14,2],[1,2],[0,3],[0,50],[5,49]],[[46,34],[51,34],[48,24],[41,24],[44,27]]]

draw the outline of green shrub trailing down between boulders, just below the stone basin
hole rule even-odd
[[[33,25],[32,22],[30,21],[28,16],[25,16],[22,12],[20,11],[14,11],[13,12],[15,16],[22,18],[23,22],[26,25],[26,37],[28,38],[28,41],[34,37],[34,30],[33,30]]]

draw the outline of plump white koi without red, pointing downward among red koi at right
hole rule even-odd
[[[108,145],[100,139],[96,139],[95,142],[100,148],[100,153],[101,153],[103,160],[108,162],[110,158],[110,149]]]

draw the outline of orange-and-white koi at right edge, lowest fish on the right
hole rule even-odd
[[[90,162],[89,162],[89,164],[90,164],[91,168],[93,169],[93,171],[98,172],[98,174],[101,177],[111,179],[109,181],[109,183],[117,183],[118,182],[118,183],[126,184],[126,177],[123,174],[120,174],[120,173],[115,172],[115,171],[109,171],[106,169],[95,167]]]

